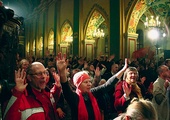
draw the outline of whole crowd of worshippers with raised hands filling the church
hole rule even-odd
[[[48,55],[17,61],[4,120],[169,120],[170,59]]]

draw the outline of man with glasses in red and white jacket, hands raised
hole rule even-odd
[[[21,69],[15,71],[16,85],[5,109],[4,120],[57,120],[56,103],[61,87],[55,79],[56,85],[46,90],[47,75],[40,62],[32,63],[26,73]]]

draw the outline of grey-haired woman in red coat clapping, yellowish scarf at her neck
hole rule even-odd
[[[130,101],[134,98],[143,98],[141,90],[137,85],[138,71],[135,67],[129,67],[126,69],[123,81],[120,81],[114,93],[114,106],[118,113],[125,112],[126,108],[130,104]]]

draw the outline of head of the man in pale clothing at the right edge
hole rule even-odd
[[[157,69],[158,76],[162,79],[166,79],[169,77],[169,68],[166,65],[161,65]]]

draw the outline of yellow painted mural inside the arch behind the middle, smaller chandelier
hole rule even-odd
[[[99,28],[99,26],[105,22],[105,18],[95,10],[89,20],[88,26],[87,26],[87,31],[86,31],[86,39],[91,40],[93,39],[93,32]]]

